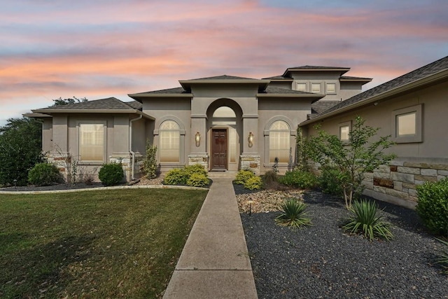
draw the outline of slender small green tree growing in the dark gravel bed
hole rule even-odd
[[[365,120],[356,117],[353,129],[349,133],[349,141],[341,141],[337,136],[330,135],[316,127],[318,134],[309,138],[307,153],[309,158],[322,166],[336,167],[335,174],[344,190],[346,208],[351,208],[353,193],[360,193],[362,181],[366,172],[372,172],[379,165],[388,164],[395,155],[386,154],[384,150],[393,146],[391,136],[379,137],[370,142],[379,128],[364,125]]]

